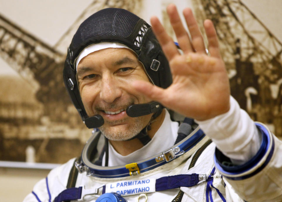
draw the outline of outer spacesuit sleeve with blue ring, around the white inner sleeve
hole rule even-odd
[[[282,143],[261,123],[259,151],[239,166],[226,165],[225,155],[216,149],[214,162],[224,179],[245,201],[282,200]]]

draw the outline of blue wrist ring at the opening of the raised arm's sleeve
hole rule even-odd
[[[214,155],[214,163],[216,165],[216,168],[219,169],[219,171],[223,174],[224,177],[226,177],[228,179],[232,179],[232,180],[243,180],[243,179],[252,177],[255,174],[259,173],[263,168],[265,168],[265,166],[271,160],[271,157],[273,156],[273,152],[274,152],[274,141],[273,140],[272,140],[272,144],[271,144],[272,136],[263,125],[256,123],[256,127],[261,132],[262,143],[261,143],[259,151],[248,162],[244,163],[243,165],[239,165],[239,166],[226,166],[226,165],[223,165],[218,160],[219,155],[224,155],[224,154],[222,154],[219,151],[219,152],[217,152],[218,156],[216,156],[216,154]],[[268,153],[268,156],[267,156],[265,162],[260,167],[258,167],[254,172],[252,172],[248,175],[243,174],[244,172],[249,171],[250,169],[256,167],[257,164],[259,163],[259,161],[261,161],[261,159],[267,153]],[[237,176],[237,177],[230,176],[230,175],[238,175],[238,174],[243,174],[243,175]],[[226,175],[228,175],[228,176],[226,176]]]

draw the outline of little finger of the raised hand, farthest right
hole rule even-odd
[[[219,50],[219,42],[216,35],[216,30],[211,20],[204,21],[204,28],[206,30],[208,42],[209,42],[209,53],[213,57],[221,58]]]

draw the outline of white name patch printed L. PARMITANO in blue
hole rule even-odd
[[[116,192],[121,196],[151,193],[156,190],[156,179],[125,180],[106,184],[106,193]]]

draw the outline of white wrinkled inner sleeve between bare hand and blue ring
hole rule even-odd
[[[216,147],[237,165],[249,161],[259,151],[260,131],[233,97],[228,112],[197,122]]]

